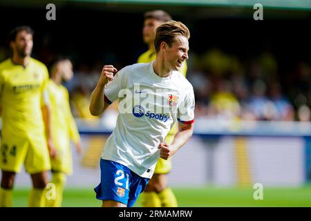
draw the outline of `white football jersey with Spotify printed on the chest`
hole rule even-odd
[[[106,84],[104,95],[109,104],[119,99],[119,115],[102,159],[151,178],[160,157],[158,145],[173,123],[194,122],[194,89],[178,71],[159,77],[151,62],[122,68]]]

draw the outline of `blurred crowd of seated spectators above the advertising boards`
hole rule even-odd
[[[0,59],[8,57],[8,53],[8,49],[0,48]],[[37,57],[48,64],[53,53],[48,46],[43,46]],[[187,62],[187,79],[196,93],[197,117],[310,121],[311,66],[308,62],[299,61],[283,75],[279,71],[281,64],[270,50],[242,60],[220,48],[211,48],[200,55],[191,52]],[[100,60],[75,65],[75,77],[65,85],[75,117],[93,118],[88,102],[102,65]],[[116,106],[111,109],[116,111]]]

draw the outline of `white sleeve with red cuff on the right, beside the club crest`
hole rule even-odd
[[[194,122],[194,89],[188,90],[182,103],[178,106],[177,119],[182,124],[192,124]]]

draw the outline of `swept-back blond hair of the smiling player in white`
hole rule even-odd
[[[187,26],[180,21],[167,21],[156,28],[156,37],[154,38],[154,47],[156,52],[160,51],[160,45],[164,41],[171,47],[171,44],[175,41],[175,37],[182,35],[190,38],[190,32]]]

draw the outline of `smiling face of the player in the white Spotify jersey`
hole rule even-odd
[[[187,37],[178,35],[171,47],[167,46],[165,60],[171,70],[180,70],[182,63],[188,59],[189,42]]]

